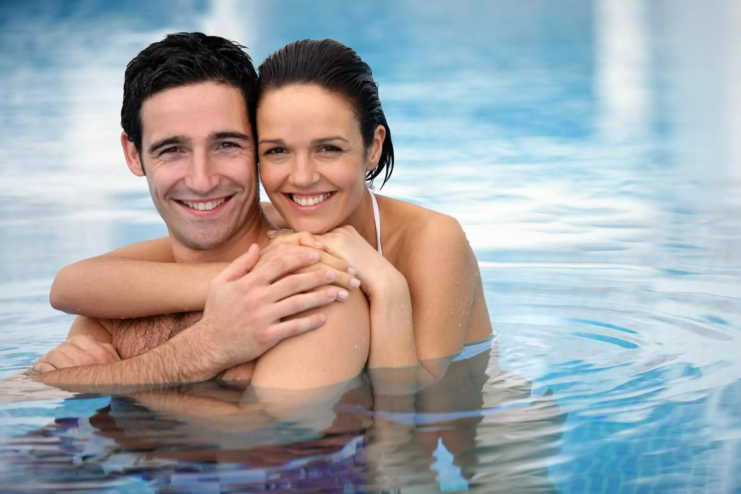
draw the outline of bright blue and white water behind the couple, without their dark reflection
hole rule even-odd
[[[559,486],[618,492],[579,490],[607,469],[740,492],[734,0],[1,1],[2,375],[64,339],[57,270],[165,235],[120,150],[123,73],[193,30],[256,65],[333,38],[373,67],[397,158],[382,193],[462,223],[502,367],[569,413]]]

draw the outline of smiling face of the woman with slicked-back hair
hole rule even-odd
[[[385,136],[379,125],[367,150],[350,104],[309,84],[266,93],[257,109],[257,135],[270,201],[293,230],[316,234],[344,224],[357,209],[365,171],[378,163]]]

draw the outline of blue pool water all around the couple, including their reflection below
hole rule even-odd
[[[118,113],[127,61],[179,30],[256,61],[355,48],[397,153],[381,193],[459,219],[496,345],[266,423],[207,384],[4,383],[0,492],[741,493],[734,1],[0,2],[0,378],[63,341],[62,266],[165,234]]]

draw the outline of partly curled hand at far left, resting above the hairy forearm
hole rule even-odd
[[[121,357],[110,343],[100,343],[87,335],[75,335],[64,341],[33,366],[39,373],[79,365],[110,364]]]

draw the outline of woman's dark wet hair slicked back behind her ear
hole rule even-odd
[[[373,181],[383,173],[383,184],[388,181],[393,171],[391,130],[386,123],[371,67],[352,48],[333,39],[302,39],[268,56],[258,70],[258,105],[262,96],[271,90],[290,84],[316,84],[339,93],[350,103],[360,121],[360,133],[366,148],[373,143],[376,126],[383,125],[386,138],[381,158],[378,165],[365,174],[365,179]]]

